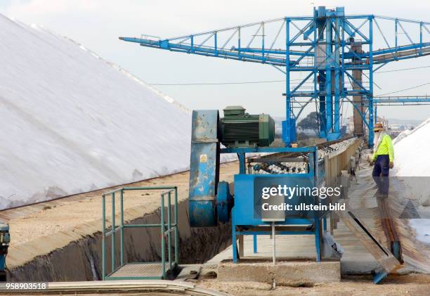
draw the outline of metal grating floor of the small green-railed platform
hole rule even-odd
[[[166,272],[169,270],[169,263],[165,264]],[[119,269],[106,277],[106,279],[144,279],[144,278],[162,278],[162,263],[129,263],[124,264]]]

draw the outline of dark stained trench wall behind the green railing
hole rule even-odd
[[[172,211],[173,213],[173,211]],[[179,264],[203,263],[231,244],[231,226],[191,229],[188,223],[188,201],[178,204]],[[131,224],[159,223],[160,212],[143,214]],[[119,262],[119,232],[117,232]],[[173,243],[173,240],[172,240]],[[107,272],[110,262],[110,238],[107,238]],[[158,262],[160,229],[125,229],[125,262]],[[173,252],[172,252],[173,254]],[[8,271],[8,281],[96,281],[101,278],[101,232],[74,241],[47,255]]]

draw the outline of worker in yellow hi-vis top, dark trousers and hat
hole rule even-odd
[[[379,195],[385,197],[389,193],[389,171],[394,167],[394,148],[391,137],[386,134],[384,124],[374,124],[373,157],[370,165],[374,165],[372,176],[378,186]]]

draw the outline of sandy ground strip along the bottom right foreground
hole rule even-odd
[[[320,283],[310,287],[277,287],[254,282],[217,282],[205,280],[198,285],[237,296],[257,295],[430,295],[430,275],[389,276],[382,285],[374,285],[368,276],[342,279],[340,283]]]

